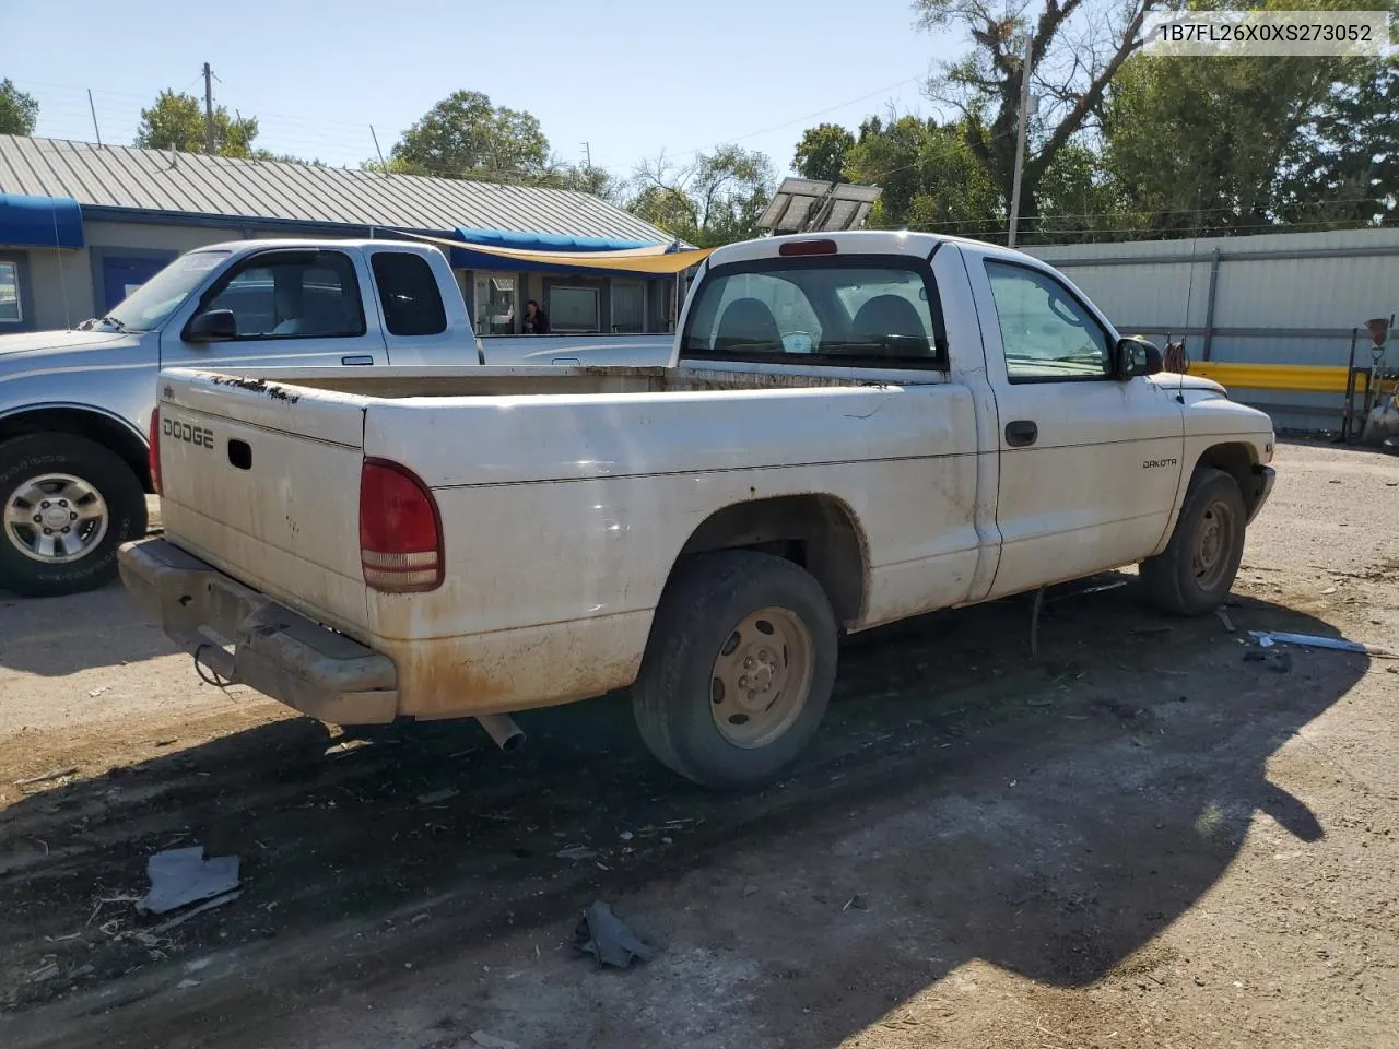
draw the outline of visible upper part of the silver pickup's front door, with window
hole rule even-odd
[[[238,334],[189,341],[185,319],[161,337],[161,366],[385,364],[378,317],[364,309],[365,281],[357,257],[347,252],[270,249],[250,255],[210,285],[194,311],[231,311]]]

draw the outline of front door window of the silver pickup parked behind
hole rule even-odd
[[[234,313],[238,338],[346,338],[365,333],[360,281],[341,252],[249,259],[204,304]]]

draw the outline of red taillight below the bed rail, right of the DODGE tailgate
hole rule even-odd
[[[365,459],[360,470],[360,566],[385,593],[442,583],[442,519],[432,492],[409,470]]]

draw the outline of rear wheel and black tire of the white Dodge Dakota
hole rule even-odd
[[[729,550],[677,566],[632,712],[652,754],[720,790],[772,780],[820,725],[835,684],[831,603],[806,571]]]

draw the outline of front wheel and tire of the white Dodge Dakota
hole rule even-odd
[[[1244,558],[1247,519],[1238,481],[1223,470],[1199,467],[1165,551],[1142,562],[1147,600],[1174,615],[1219,608]]]

